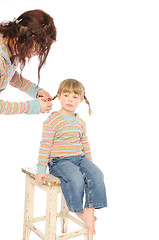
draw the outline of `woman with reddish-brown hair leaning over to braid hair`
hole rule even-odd
[[[42,10],[27,11],[14,21],[0,23],[0,93],[9,83],[35,98],[20,103],[0,100],[0,114],[38,114],[51,110],[52,103],[46,101],[50,94],[23,78],[16,68],[19,63],[22,72],[26,59],[37,55],[40,80],[40,69],[55,40],[54,21]]]

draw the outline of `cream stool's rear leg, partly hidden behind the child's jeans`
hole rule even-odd
[[[67,227],[68,227],[68,218],[66,217],[68,214],[68,207],[66,205],[65,198],[63,194],[61,193],[61,232],[66,233],[67,232]]]

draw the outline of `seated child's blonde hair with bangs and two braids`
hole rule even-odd
[[[82,99],[84,99],[89,107],[89,115],[92,115],[90,103],[85,95],[85,88],[81,82],[79,82],[75,79],[71,79],[71,78],[65,79],[64,81],[62,81],[60,83],[58,91],[57,91],[57,95],[55,97],[53,97],[52,100],[57,98],[58,95],[60,96],[62,93],[65,93],[65,92],[69,92],[69,93],[73,92],[73,93],[79,95]]]

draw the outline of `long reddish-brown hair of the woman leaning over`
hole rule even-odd
[[[18,57],[21,71],[26,58],[30,59],[33,56],[34,49],[34,54],[39,58],[40,81],[40,69],[46,61],[51,44],[56,41],[53,18],[42,10],[27,11],[12,22],[0,23],[0,33],[8,41],[11,63]]]

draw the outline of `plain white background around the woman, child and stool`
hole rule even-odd
[[[101,240],[159,239],[159,8],[154,0],[1,1],[0,21],[26,10],[48,12],[57,27],[40,86],[56,95],[68,78],[81,81],[94,162],[103,170],[108,208],[96,211]],[[23,75],[37,83],[33,59]],[[1,99],[30,98],[8,86]],[[58,100],[53,110],[58,110]],[[35,166],[49,114],[0,116],[1,236],[22,239],[25,176]],[[40,207],[40,204],[39,204]],[[81,237],[82,238],[82,237]],[[81,239],[79,238],[79,239]],[[31,240],[39,239],[32,235]]]

